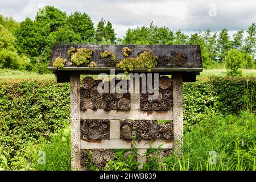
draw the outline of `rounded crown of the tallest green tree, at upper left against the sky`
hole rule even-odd
[[[51,32],[56,31],[59,27],[63,27],[65,19],[66,13],[53,6],[45,6],[43,9],[39,9],[35,17],[36,22],[43,26],[49,26]]]

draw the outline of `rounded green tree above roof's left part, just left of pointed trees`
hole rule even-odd
[[[92,19],[86,13],[75,12],[68,16],[67,18],[68,26],[70,26],[73,31],[80,34],[82,42],[84,43],[94,43],[95,29],[93,26]]]

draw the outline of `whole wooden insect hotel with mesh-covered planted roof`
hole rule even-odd
[[[140,167],[150,147],[163,148],[161,156],[173,149],[181,153],[183,82],[196,81],[203,71],[200,46],[59,44],[48,69],[57,82],[70,82],[74,168],[83,169],[84,150],[99,168],[114,160],[113,149],[133,144]],[[150,87],[158,91],[156,98]]]

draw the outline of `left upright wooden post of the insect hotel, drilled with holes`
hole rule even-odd
[[[81,169],[80,163],[80,75],[72,73],[70,76],[71,89],[71,166]]]

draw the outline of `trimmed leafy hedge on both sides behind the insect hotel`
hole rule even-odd
[[[255,78],[200,78],[185,83],[185,131],[215,111],[239,114],[246,103],[247,109],[255,111],[255,97]],[[69,100],[69,84],[49,80],[0,82],[0,156],[4,155],[11,166],[28,143],[37,143],[40,136],[49,137],[69,125]]]

